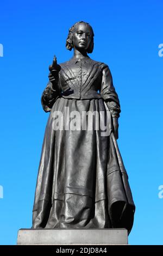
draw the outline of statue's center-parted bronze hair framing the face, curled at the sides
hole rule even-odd
[[[74,25],[69,29],[69,33],[68,33],[68,36],[67,36],[67,39],[66,39],[66,48],[69,51],[71,51],[72,48],[73,48],[73,29],[79,23],[85,23],[86,25],[90,26],[89,23],[84,22],[84,21],[79,21],[79,22],[74,23]],[[91,29],[92,29],[92,27],[91,27]],[[92,29],[92,40],[90,42],[89,48],[87,48],[87,53],[92,53],[92,51],[93,51],[93,47],[94,47],[93,36],[94,36],[94,33],[93,33],[93,29]]]

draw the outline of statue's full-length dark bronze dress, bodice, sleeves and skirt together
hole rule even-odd
[[[121,111],[109,67],[89,57],[73,57],[60,67],[56,88],[49,82],[41,97],[50,114],[33,228],[126,228],[129,233],[135,205],[112,129],[112,117]],[[81,122],[83,112],[99,114],[88,118],[93,128],[70,129],[74,111]],[[62,114],[64,129],[56,129],[56,113]],[[107,132],[97,123],[106,124]]]

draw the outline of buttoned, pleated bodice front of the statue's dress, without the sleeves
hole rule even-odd
[[[102,71],[106,65],[85,57],[72,58],[60,64],[59,86],[62,97],[71,99],[101,99]]]

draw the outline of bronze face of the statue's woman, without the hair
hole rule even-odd
[[[92,40],[92,29],[85,23],[79,23],[73,29],[73,46],[77,50],[87,50]]]

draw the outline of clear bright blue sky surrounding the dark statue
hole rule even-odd
[[[109,65],[121,102],[118,145],[136,205],[131,245],[163,244],[162,0],[1,1],[0,244],[14,245],[32,225],[32,208],[48,114],[40,97],[54,53],[65,48],[68,28],[89,22],[91,58]]]

